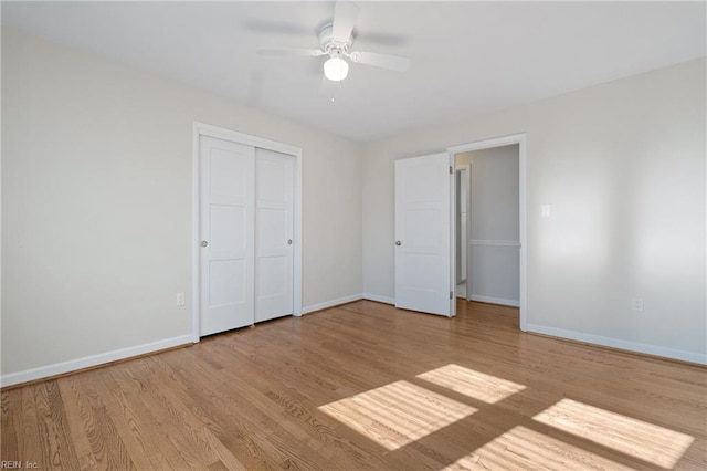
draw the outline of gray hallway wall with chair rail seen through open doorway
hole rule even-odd
[[[474,301],[518,305],[518,145],[458,154],[456,165],[471,165],[472,276]]]

